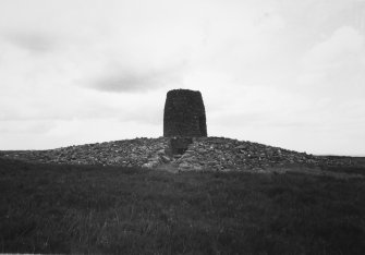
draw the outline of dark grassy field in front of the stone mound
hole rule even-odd
[[[365,180],[0,159],[0,253],[365,254]]]

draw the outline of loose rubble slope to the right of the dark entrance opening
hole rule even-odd
[[[343,165],[342,161],[334,162],[306,153],[223,137],[195,138],[185,154],[174,163],[181,170],[220,171],[265,169],[288,163]]]

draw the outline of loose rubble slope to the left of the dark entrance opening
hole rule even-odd
[[[157,162],[168,160],[165,157],[168,142],[163,137],[135,138],[48,150],[0,151],[0,157],[47,163],[155,167]]]

